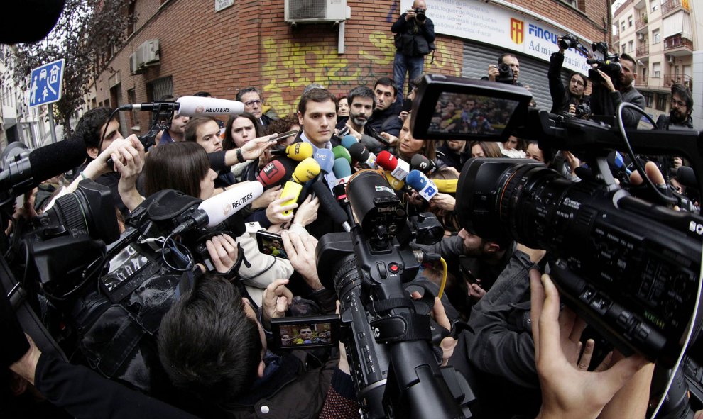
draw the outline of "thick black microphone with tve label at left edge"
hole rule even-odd
[[[0,192],[19,196],[85,162],[85,143],[62,140],[15,155],[0,172]]]

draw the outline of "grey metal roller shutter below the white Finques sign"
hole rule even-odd
[[[547,83],[547,69],[549,63],[535,60],[533,57],[522,55],[510,50],[501,50],[489,45],[479,43],[464,43],[464,66],[462,77],[481,79],[488,75],[488,66],[496,64],[498,57],[504,52],[511,52],[520,61],[520,77],[522,84],[530,86],[537,107],[549,111],[552,108],[552,97],[549,94],[549,84]],[[567,83],[569,71],[562,70],[562,80]],[[565,84],[567,86],[567,84]]]

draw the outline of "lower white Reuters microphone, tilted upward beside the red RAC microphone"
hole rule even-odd
[[[197,210],[174,228],[171,234],[180,234],[203,225],[207,225],[207,228],[213,228],[227,218],[234,216],[241,208],[249,205],[261,194],[263,194],[263,185],[252,181],[212,196],[202,201]]]

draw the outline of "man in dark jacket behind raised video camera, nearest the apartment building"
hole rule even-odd
[[[601,69],[596,72],[602,78],[600,83],[593,83],[591,93],[591,109],[594,115],[617,116],[618,106],[629,102],[639,108],[645,108],[644,96],[635,89],[635,60],[627,54],[620,56],[621,70],[618,79],[611,77]],[[640,114],[633,109],[623,109],[623,125],[625,128],[637,128]]]

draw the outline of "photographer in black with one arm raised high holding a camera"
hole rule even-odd
[[[586,104],[590,107],[591,98],[584,94],[588,86],[588,79],[583,74],[572,72],[569,76],[569,89],[565,89],[562,83],[562,65],[564,64],[564,48],[566,45],[560,37],[559,52],[554,52],[550,57],[549,71],[549,92],[552,96],[551,113],[571,113],[577,114],[577,106]]]

